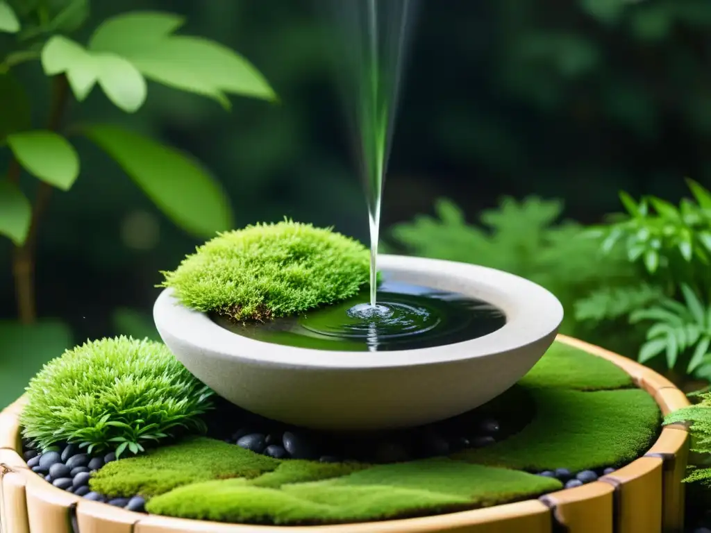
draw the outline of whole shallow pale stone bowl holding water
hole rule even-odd
[[[220,396],[267,418],[316,429],[427,424],[498,396],[535,365],[562,321],[560,302],[531,281],[471,264],[380,257],[395,282],[479,298],[506,315],[474,340],[418,350],[341,352],[253,340],[193,311],[165,289],[154,306],[164,343]]]

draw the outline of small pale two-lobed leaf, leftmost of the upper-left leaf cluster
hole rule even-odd
[[[80,102],[97,80],[97,65],[90,53],[71,39],[54,36],[42,49],[42,67],[48,76],[66,72],[69,85]]]

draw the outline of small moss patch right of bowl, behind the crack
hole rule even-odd
[[[559,387],[588,391],[633,386],[629,374],[617,365],[563,343],[553,343],[518,383],[526,387]]]

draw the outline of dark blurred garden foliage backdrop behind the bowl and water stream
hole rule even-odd
[[[82,39],[107,16],[169,9],[187,17],[186,33],[245,55],[280,103],[234,99],[225,113],[209,99],[151,84],[135,116],[99,92],[73,106],[73,116],[130,120],[196,156],[224,185],[237,227],[287,215],[367,242],[319,1],[93,1]],[[619,190],[677,203],[688,196],[685,176],[711,183],[710,35],[707,0],[423,1],[385,182],[385,246],[530,277],[564,302],[567,333],[636,356],[645,338],[639,324],[577,321],[574,306],[594,289],[625,286],[638,268],[624,249],[603,262],[599,242],[577,236],[622,210]],[[20,72],[46,114],[41,68]],[[59,345],[154,335],[158,271],[199,243],[94,146],[75,146],[81,176],[53,196],[38,241],[45,336],[11,327],[11,245],[0,242],[0,360],[36,355],[28,368],[57,355],[43,352],[45,337]]]

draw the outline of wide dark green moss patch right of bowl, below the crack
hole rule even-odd
[[[647,450],[660,412],[639,389],[577,392],[534,389],[533,421],[504,441],[453,457],[472,463],[540,471],[621,465]]]

